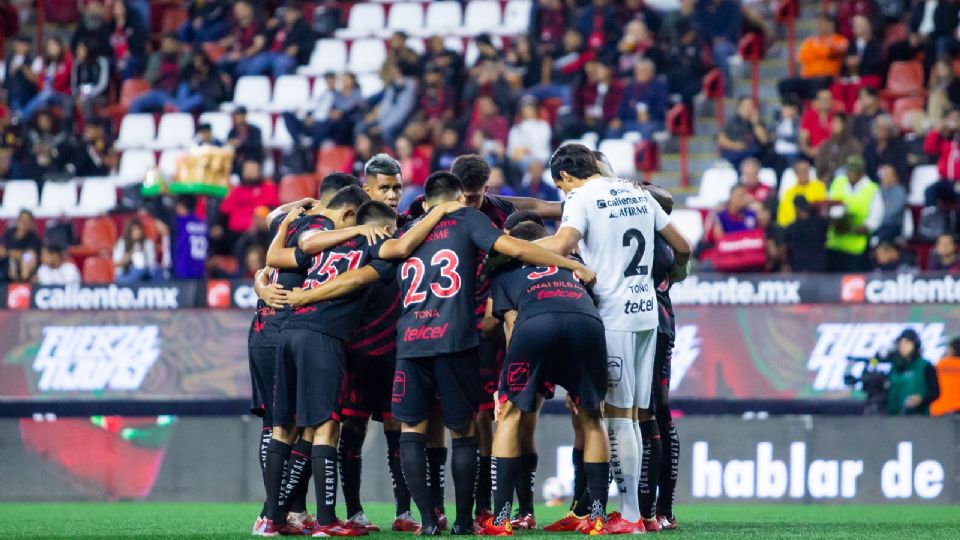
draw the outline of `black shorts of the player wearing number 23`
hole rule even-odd
[[[440,398],[443,425],[463,431],[480,403],[477,349],[424,358],[398,358],[393,376],[393,417],[418,424],[430,416]]]

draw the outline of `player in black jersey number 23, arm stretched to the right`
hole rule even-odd
[[[463,184],[447,172],[425,185],[433,207],[462,200]],[[452,532],[473,534],[473,494],[477,467],[474,414],[481,387],[475,294],[478,253],[496,250],[530,264],[554,265],[593,273],[584,265],[508,236],[473,208],[448,215],[401,266],[403,308],[397,336],[393,415],[402,423],[400,458],[407,486],[421,514],[422,534],[440,533],[427,485],[425,433],[435,395],[444,425],[453,437],[453,479],[457,516]]]

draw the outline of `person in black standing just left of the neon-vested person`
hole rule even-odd
[[[789,206],[795,210],[796,219],[787,225],[783,233],[786,265],[782,270],[825,272],[827,229],[830,224],[810,206],[810,202],[803,195],[796,195],[789,201]]]

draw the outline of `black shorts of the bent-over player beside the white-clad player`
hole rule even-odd
[[[550,313],[513,329],[503,372],[500,400],[524,412],[536,412],[537,394],[553,383],[571,399],[597,410],[607,395],[607,346],[603,323],[579,313]]]

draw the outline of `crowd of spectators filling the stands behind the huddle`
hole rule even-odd
[[[345,70],[311,74],[309,101],[270,111],[270,125],[290,136],[280,148],[254,111],[231,106],[238,82],[304,73],[317,40],[339,35],[356,5],[196,0],[185,3],[182,24],[158,25],[168,18],[150,2],[89,0],[66,32],[48,30],[40,54],[28,33],[7,40],[0,178],[42,186],[106,176],[127,150],[115,143],[124,113],[193,115],[192,144],[229,147],[235,185],[223,199],[135,201],[150,213],[117,220],[108,257],[111,277],[124,283],[249,275],[269,241],[266,213],[280,203],[274,180],[336,169],[362,176],[380,151],[401,163],[401,209],[431,171],[465,153],[488,161],[492,193],[559,200],[544,175],[558,144],[589,134],[665,140],[668,110],[676,103],[695,110],[711,69],[723,73],[728,95],[747,93],[734,86],[744,35],[765,47],[778,39],[772,1],[662,4],[539,0],[530,2],[526,32],[379,34],[386,55],[374,83],[370,73],[351,71],[351,59]],[[706,209],[701,269],[724,269],[709,254],[725,236],[761,231],[763,259],[749,270],[920,265],[918,241],[935,246],[926,267],[960,270],[949,253],[956,242],[946,238],[958,221],[958,4],[838,0],[803,9],[822,5],[830,12],[798,44],[798,76],[784,73],[781,101],[762,107],[739,98],[716,137],[719,157],[740,181],[722,208]],[[920,86],[888,92],[904,62],[919,68]],[[131,81],[143,88],[118,109]],[[224,133],[202,116],[221,110],[231,111]],[[324,161],[331,147],[344,149],[334,166]],[[938,181],[923,190],[913,231],[904,231],[904,215],[914,211],[911,178],[927,164],[936,165]],[[762,181],[767,168],[773,185]],[[788,174],[795,181],[781,185]],[[21,214],[6,229],[0,280],[73,280],[71,258],[86,268],[73,257],[76,235],[41,241],[28,221]],[[901,262],[884,258],[890,250]],[[56,271],[40,272],[44,266]]]

